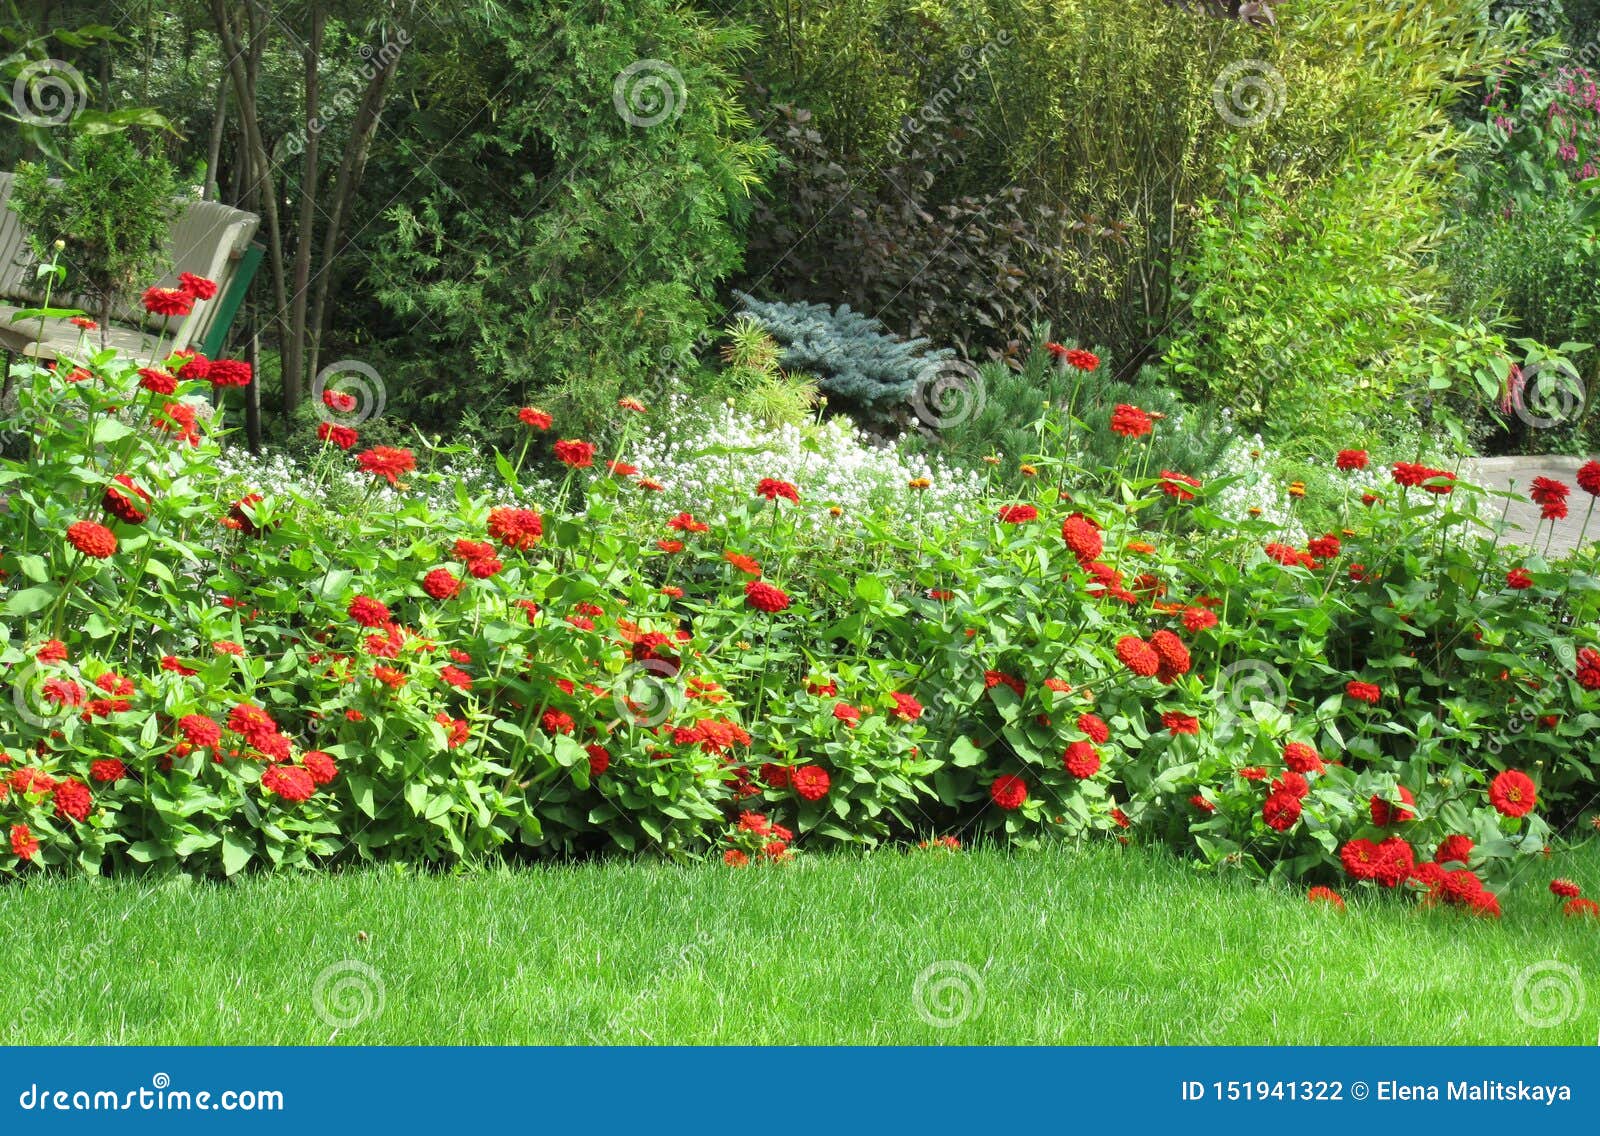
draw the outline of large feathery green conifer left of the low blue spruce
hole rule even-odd
[[[739,264],[768,162],[733,94],[752,32],[672,0],[603,21],[518,0],[456,21],[478,50],[470,114],[446,85],[394,130],[427,136],[458,112],[470,130],[397,171],[368,280],[395,334],[472,366],[442,382],[432,362],[395,360],[390,400],[432,419],[533,395],[598,414],[696,341]]]

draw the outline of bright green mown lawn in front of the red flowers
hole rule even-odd
[[[21,1006],[6,1034],[72,1045],[1594,1045],[1600,922],[1560,917],[1546,891],[1557,872],[1600,893],[1600,846],[1528,872],[1499,923],[1392,901],[1352,901],[1341,915],[1117,848],[234,886],[46,880],[0,890]],[[1515,1010],[1518,976],[1539,963],[1522,997],[1531,1016],[1558,1019],[1549,1027]],[[336,965],[318,1008],[317,976]],[[918,976],[938,965],[918,1013]],[[946,979],[955,986],[941,989]],[[965,1021],[930,1024],[958,1014],[963,984],[974,990]],[[1582,995],[1582,1010],[1563,1010],[1562,995]]]

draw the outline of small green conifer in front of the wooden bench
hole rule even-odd
[[[104,323],[118,299],[165,270],[176,192],[171,166],[141,155],[126,134],[78,134],[64,168],[18,166],[10,206],[42,261],[54,256],[56,240],[66,242],[67,278],[59,291],[88,298]]]

